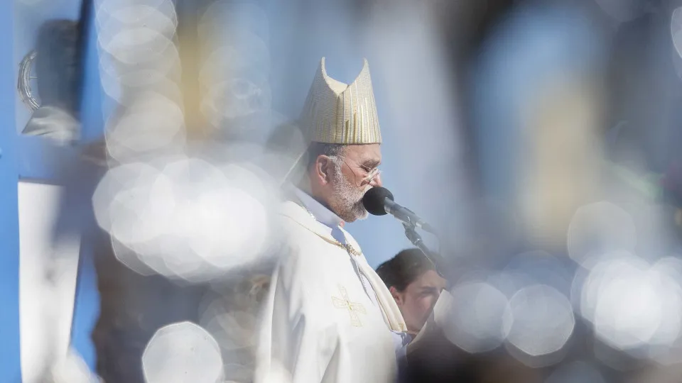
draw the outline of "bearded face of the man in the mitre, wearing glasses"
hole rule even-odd
[[[381,163],[379,144],[348,145],[332,158],[328,204],[346,222],[367,218],[362,196],[372,187],[381,186],[377,167]],[[374,177],[372,177],[373,174]]]

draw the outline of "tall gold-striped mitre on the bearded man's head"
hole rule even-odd
[[[355,81],[344,84],[328,76],[325,57],[322,57],[300,122],[308,140],[313,142],[342,145],[381,143],[367,59],[364,59]]]

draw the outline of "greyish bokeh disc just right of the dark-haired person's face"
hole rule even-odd
[[[450,318],[443,331],[450,342],[469,353],[499,347],[509,332],[509,301],[486,282],[465,282],[452,291]]]

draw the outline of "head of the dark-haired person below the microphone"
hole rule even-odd
[[[400,309],[407,332],[416,335],[445,289],[445,279],[417,248],[406,249],[377,267]]]

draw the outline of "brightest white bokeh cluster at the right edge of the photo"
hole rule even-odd
[[[583,282],[580,312],[617,350],[670,346],[681,331],[680,268],[672,258],[651,267],[627,253],[605,257]]]

